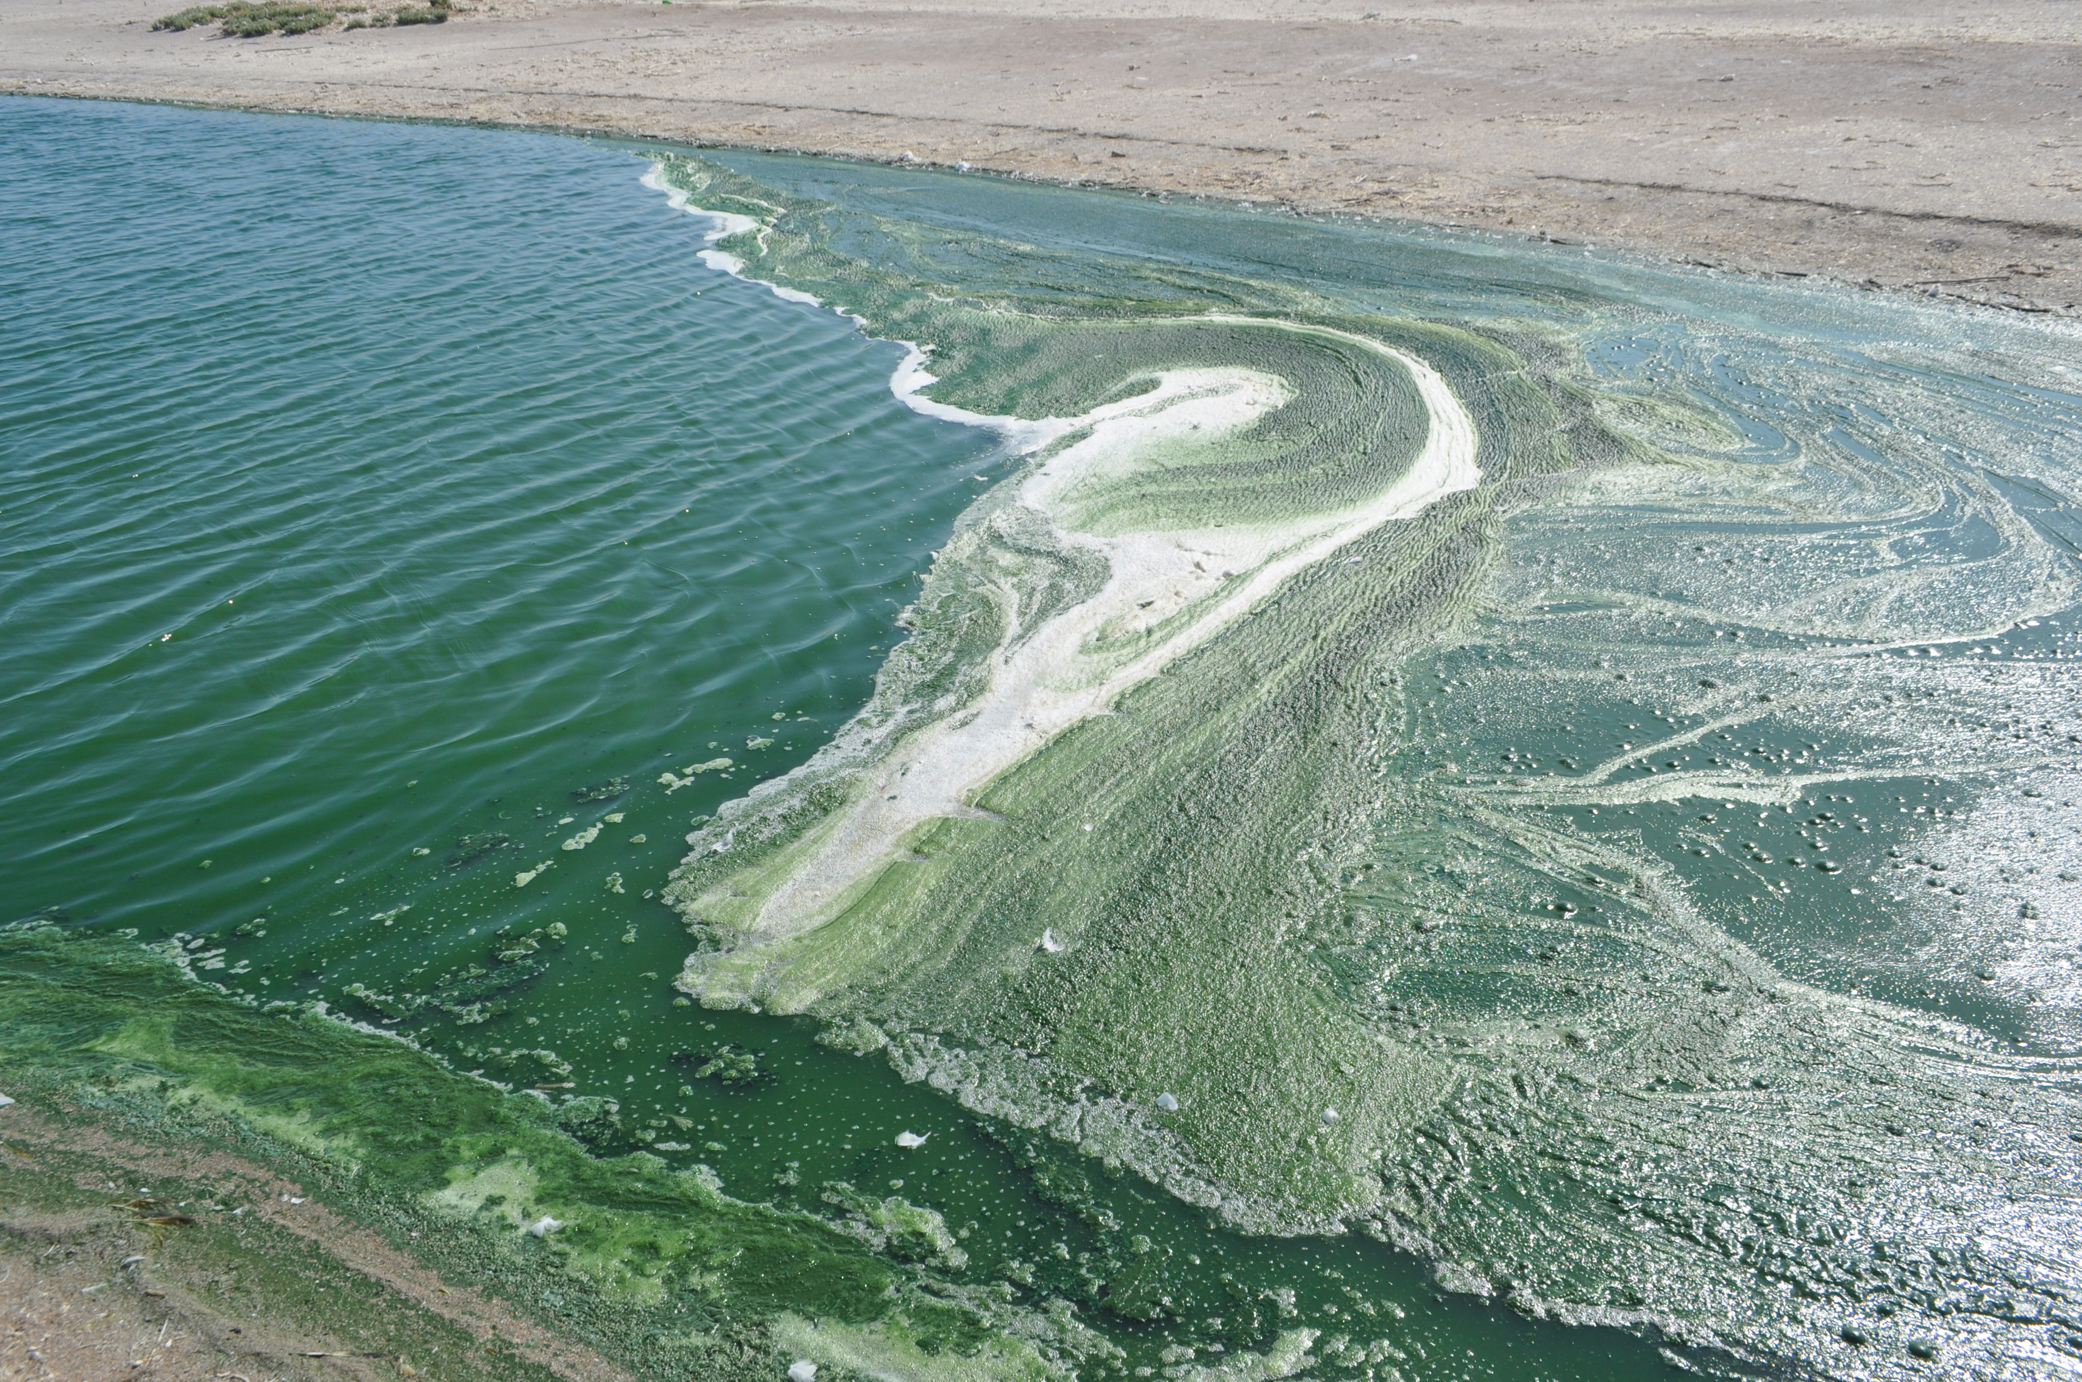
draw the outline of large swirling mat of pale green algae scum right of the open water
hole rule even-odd
[[[1031,441],[937,554],[870,708],[689,837],[666,893],[697,937],[689,993],[812,1012],[1233,1222],[1357,1222],[1445,1286],[1532,1313],[1657,1320],[1870,1376],[2074,1365],[2070,1020],[1995,1041],[2067,997],[2072,935],[2017,945],[2001,907],[1932,918],[1926,935],[2017,968],[2007,1022],[1986,997],[1947,1009],[1922,976],[1959,962],[1905,964],[1884,935],[1932,893],[1882,905],[1899,858],[1824,858],[1853,818],[1899,830],[1911,780],[1992,801],[2036,772],[2028,797],[2072,812],[2072,687],[2003,662],[2009,685],[1940,693],[1907,662],[1924,641],[2017,656],[1992,641],[2040,624],[2055,641],[2024,656],[2070,656],[2051,616],[2074,599],[2074,535],[1959,464],[2028,427],[2028,395],[1949,408],[1928,352],[1859,354],[1851,327],[1803,325],[1801,358],[1639,310],[1666,335],[1624,346],[1580,302],[1360,314],[1158,260],[1072,268],[958,216],[856,212],[695,160],[662,177],[758,221],[722,241],[747,277],[929,343],[935,402],[1081,418]],[[1586,362],[1578,339],[1599,335]],[[1103,604],[1099,549],[1124,547],[1099,539],[1307,524],[1414,464],[1414,366],[1351,339],[1437,370],[1480,481],[1106,683],[1103,706],[1035,731],[958,801],[885,808],[960,778],[935,753],[970,751],[964,726],[1008,695],[1045,703],[1008,691],[1008,668]],[[2001,370],[2057,387],[2061,346],[2045,348]],[[1106,410],[1193,370],[1270,379],[1276,402],[1205,443],[1153,427],[1078,452]],[[1803,393],[1807,370],[1834,393]],[[1928,431],[1888,420],[1905,406]],[[2074,493],[2065,406],[2028,464],[2009,452],[2040,514]],[[1051,479],[1081,454],[1097,460]],[[1108,614],[1056,689],[1218,606],[1180,599],[1162,620]],[[2034,749],[1990,743],[1997,720]],[[1884,826],[1857,814],[1882,799]],[[2072,882],[2082,864],[2070,816],[2026,845],[2003,812],[1947,810],[1947,849],[1988,868],[1999,837],[2038,855],[2026,872]],[[1786,845],[1730,843],[1774,822],[1803,847],[1776,868]],[[1795,899],[1807,914],[1772,937]],[[2040,922],[2053,903],[2005,905]],[[1811,964],[1830,930],[1832,962]],[[1918,980],[1874,984],[1888,964]],[[1845,968],[1863,982],[1836,982]]]

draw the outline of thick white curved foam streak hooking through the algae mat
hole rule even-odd
[[[1247,329],[1343,339],[1397,362],[1414,379],[1430,431],[1412,466],[1372,502],[1287,524],[1235,524],[1114,535],[1056,527],[1053,537],[1106,562],[1106,583],[1039,626],[1012,620],[989,658],[987,687],[962,708],[897,743],[904,766],[860,791],[818,830],[814,849],[791,860],[779,887],[745,926],[729,970],[702,978],[708,1003],[747,978],[758,945],[810,930],[841,910],[904,841],[933,818],[974,812],[974,797],[999,774],[1039,753],[1081,720],[1106,714],[1131,687],[1160,674],[1272,597],[1299,570],[1332,558],[1355,537],[1405,520],[1437,500],[1472,489],[1476,431],[1468,410],[1428,364],[1345,331],[1210,316]],[[1235,433],[1285,406],[1278,381],[1220,370],[1170,370],[1147,393],[1106,404],[1064,425],[1076,439],[1053,450],[1018,485],[1018,504],[1058,520],[1093,477],[1133,470],[1145,450],[1185,431]],[[885,791],[887,789],[887,791]],[[702,899],[693,899],[700,907]],[[820,997],[793,989],[768,1005],[799,1012]]]

